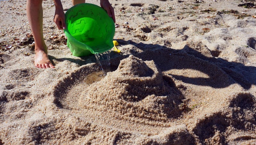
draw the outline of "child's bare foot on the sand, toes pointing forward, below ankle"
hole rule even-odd
[[[35,51],[35,66],[38,68],[55,68],[51,62],[51,60],[48,58],[47,53],[45,53],[42,50]]]

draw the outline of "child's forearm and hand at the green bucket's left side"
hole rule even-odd
[[[53,21],[56,23],[59,30],[66,29],[65,13],[63,11],[60,0],[53,0],[55,4],[55,14]]]

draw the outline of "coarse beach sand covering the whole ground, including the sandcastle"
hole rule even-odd
[[[256,144],[255,0],[110,3],[121,53],[102,77],[93,55],[72,56],[50,0],[56,68],[35,68],[26,2],[0,1],[0,145]]]

